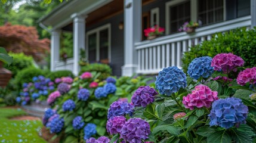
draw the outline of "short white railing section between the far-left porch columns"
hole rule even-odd
[[[74,60],[73,58],[68,58],[65,62],[64,61],[56,61],[54,70],[70,70],[73,71],[74,69]]]

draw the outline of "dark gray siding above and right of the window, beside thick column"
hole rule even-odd
[[[111,63],[113,75],[121,76],[121,66],[124,65],[124,30],[120,30],[118,25],[124,21],[124,14],[118,14],[107,20],[95,23],[86,27],[86,31],[90,31],[104,24],[111,24]]]

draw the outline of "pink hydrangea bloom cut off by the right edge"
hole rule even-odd
[[[247,82],[254,84],[256,83],[256,67],[247,68],[240,71],[238,78],[236,79],[239,85],[245,85]]]

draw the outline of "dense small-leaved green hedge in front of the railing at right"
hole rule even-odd
[[[215,37],[214,35],[212,37]],[[183,61],[183,70],[187,71],[189,63],[196,57],[208,55],[214,57],[219,53],[232,52],[245,60],[245,67],[256,66],[256,31],[255,29],[246,30],[235,29],[225,33],[217,33],[216,38],[210,41],[204,41],[201,45],[191,48],[191,51],[185,52]]]

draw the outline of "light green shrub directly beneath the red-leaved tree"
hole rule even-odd
[[[13,77],[15,77],[20,70],[33,66],[33,58],[31,56],[24,55],[22,52],[9,53],[9,55],[13,57],[13,63],[11,63],[10,66],[5,65],[5,68],[13,73]]]

